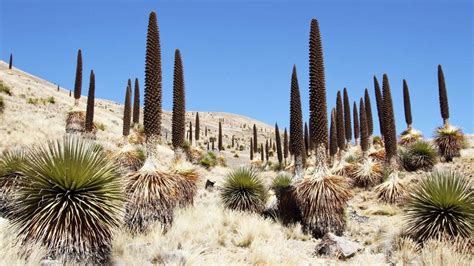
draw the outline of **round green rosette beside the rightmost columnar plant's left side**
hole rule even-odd
[[[400,161],[407,171],[422,169],[429,171],[436,164],[437,151],[433,146],[423,140],[419,140],[399,152]]]

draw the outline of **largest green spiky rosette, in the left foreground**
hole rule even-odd
[[[44,245],[52,257],[107,262],[123,213],[116,164],[94,142],[65,137],[33,147],[21,169],[28,182],[11,220],[19,239]]]

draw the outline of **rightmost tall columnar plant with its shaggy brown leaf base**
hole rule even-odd
[[[438,86],[443,126],[436,129],[435,143],[440,156],[444,157],[447,162],[451,162],[454,157],[461,156],[460,150],[464,143],[464,135],[461,129],[449,124],[448,93],[441,65],[438,65]]]

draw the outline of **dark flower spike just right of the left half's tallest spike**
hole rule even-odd
[[[174,76],[173,76],[173,113],[171,116],[171,142],[175,151],[180,153],[184,146],[184,134],[186,132],[186,109],[184,92],[184,74],[181,52],[179,49],[174,53]]]

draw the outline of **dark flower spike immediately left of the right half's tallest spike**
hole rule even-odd
[[[303,116],[301,114],[300,88],[296,66],[293,66],[291,74],[291,94],[290,94],[290,149],[295,158],[295,177],[303,177],[303,167],[305,165],[306,154],[304,153],[303,139]]]

